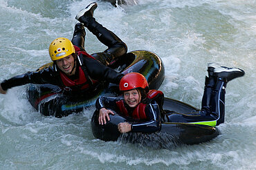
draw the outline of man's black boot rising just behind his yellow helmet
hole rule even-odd
[[[82,23],[76,23],[73,38],[71,40],[72,44],[84,50],[85,35],[86,32],[84,30],[84,26],[82,25]]]

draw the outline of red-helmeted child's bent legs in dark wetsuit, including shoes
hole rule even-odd
[[[209,77],[205,77],[201,111],[197,113],[168,113],[170,122],[190,122],[217,126],[225,120],[226,84],[244,75],[244,70],[227,68],[217,64],[208,65]]]

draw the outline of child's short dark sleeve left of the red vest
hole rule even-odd
[[[119,97],[104,97],[101,96],[96,101],[95,107],[97,111],[100,111],[100,108],[107,108],[112,111],[118,111],[118,107],[116,106],[116,102],[120,100]]]

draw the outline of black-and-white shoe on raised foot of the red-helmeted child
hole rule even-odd
[[[244,76],[244,70],[241,70],[240,68],[228,68],[225,66],[219,66],[215,63],[208,64],[208,72],[212,69],[214,76],[226,79],[227,82],[237,77]]]

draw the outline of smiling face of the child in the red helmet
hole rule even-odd
[[[140,102],[140,93],[137,90],[124,92],[125,103],[130,107],[135,107]]]

